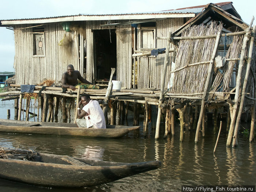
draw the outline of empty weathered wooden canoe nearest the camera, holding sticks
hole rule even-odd
[[[114,163],[87,161],[82,158],[36,153],[30,150],[16,150],[15,153],[11,151],[15,150],[0,150],[0,178],[42,187],[88,187],[154,170],[161,166],[160,161]],[[5,153],[12,159],[2,159]],[[16,160],[16,158],[26,158],[26,161]]]

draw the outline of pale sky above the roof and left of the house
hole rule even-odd
[[[0,20],[45,18],[78,14],[124,14],[172,10],[222,1],[208,0],[1,0]],[[233,0],[245,23],[256,17],[256,0]],[[254,20],[253,24],[256,21]],[[14,72],[14,34],[0,27],[0,72]]]

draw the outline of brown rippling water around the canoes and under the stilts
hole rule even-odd
[[[14,102],[0,102],[0,118],[7,118],[11,109],[14,119]],[[33,102],[32,102],[33,103]],[[30,111],[33,111],[31,109]],[[37,110],[35,110],[37,113]],[[71,112],[71,116],[74,116]],[[23,117],[23,115],[22,115]],[[61,113],[59,113],[59,120]],[[35,117],[37,121],[37,118]],[[34,121],[34,117],[30,117]],[[133,118],[128,117],[128,125]],[[140,124],[143,125],[143,117]],[[80,189],[39,188],[15,182],[0,180],[0,191],[181,191],[182,185],[256,185],[256,144],[239,135],[237,148],[226,148],[226,132],[223,128],[215,154],[217,135],[213,135],[211,121],[208,122],[205,137],[199,137],[195,145],[195,133],[186,131],[184,142],[179,142],[179,123],[176,136],[155,140],[155,132],[149,124],[149,132],[144,137],[143,126],[137,132],[130,132],[123,138],[99,139],[68,136],[29,135],[0,133],[0,146],[31,149],[34,151],[71,155],[73,157],[97,158],[112,162],[141,162],[160,160],[161,168],[147,173],[123,178],[103,185]],[[164,124],[162,124],[164,126]],[[225,122],[223,122],[225,127]],[[249,128],[250,123],[243,124]]]

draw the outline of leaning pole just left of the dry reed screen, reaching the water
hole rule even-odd
[[[171,32],[169,32],[168,37],[171,38]],[[167,45],[166,45],[166,50],[170,49],[170,39],[167,39]],[[169,61],[169,52],[165,53],[165,61],[163,65],[163,73],[161,76],[161,93],[159,97],[159,104],[162,104],[162,98],[163,98],[163,91],[165,88],[165,76],[166,76],[166,69]],[[157,125],[156,125],[156,130],[155,130],[155,139],[159,138],[159,131],[160,131],[160,121],[161,121],[161,109],[158,109],[158,114],[157,114]]]

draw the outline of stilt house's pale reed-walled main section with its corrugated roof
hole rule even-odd
[[[227,11],[219,13],[218,18],[225,15],[234,21],[227,22],[227,27],[246,28],[231,2],[217,5]],[[201,12],[211,13],[209,18],[217,19],[213,13],[218,13],[212,8],[214,6],[203,5],[135,14],[1,20],[0,26],[14,29],[18,84],[35,84],[44,78],[58,82],[67,65],[73,64],[89,81],[109,78],[114,67],[117,80],[123,82],[123,87],[159,88],[164,54],[150,57],[132,57],[132,54],[164,48],[166,39],[157,37],[166,37],[169,31],[177,31]],[[203,23],[206,19],[197,21]],[[133,66],[134,61],[138,65]],[[169,66],[167,71],[170,71]],[[134,72],[136,85],[133,83]],[[166,82],[169,77],[167,73]]]

